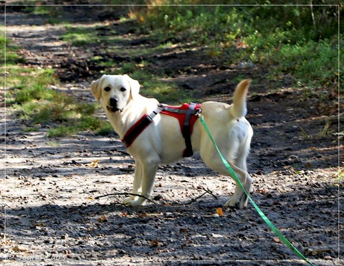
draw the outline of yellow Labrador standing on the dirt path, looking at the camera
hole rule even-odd
[[[250,80],[241,81],[234,92],[233,104],[207,101],[201,110],[213,137],[228,163],[233,167],[247,192],[250,192],[252,178],[247,172],[246,157],[250,149],[252,127],[245,119],[246,94]],[[140,84],[128,75],[103,75],[93,81],[91,90],[107,114],[111,125],[121,139],[144,114],[151,114],[159,103],[139,94]],[[194,152],[200,152],[204,163],[220,174],[229,175],[204,127],[197,119],[191,134]],[[150,198],[158,165],[173,163],[182,159],[186,144],[178,119],[166,114],[157,114],[152,123],[128,147],[135,159],[133,194]],[[248,198],[239,185],[225,207],[246,207]],[[144,205],[143,197],[129,196],[125,204]]]

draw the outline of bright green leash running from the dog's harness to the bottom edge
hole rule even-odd
[[[303,254],[301,254],[301,252],[299,252],[299,250],[297,250],[297,248],[294,247],[294,245],[292,245],[292,243],[290,243],[288,241],[288,239],[285,236],[283,236],[283,234],[281,232],[279,232],[279,229],[277,229],[277,227],[275,227],[275,225],[273,225],[271,223],[271,221],[268,219],[268,217],[266,217],[264,212],[262,212],[261,209],[259,209],[259,207],[257,206],[257,204],[252,200],[252,198],[250,198],[250,195],[248,194],[248,192],[246,192],[244,185],[242,185],[242,183],[239,181],[239,178],[237,178],[237,175],[233,171],[232,167],[230,167],[229,163],[226,161],[224,156],[222,156],[221,152],[219,151],[219,148],[217,147],[215,140],[214,140],[213,136],[211,135],[211,132],[210,132],[208,126],[206,125],[206,121],[204,121],[204,117],[202,116],[202,114],[198,114],[198,116],[200,117],[200,121],[201,121],[202,125],[204,126],[204,129],[208,133],[209,138],[211,139],[211,141],[215,145],[215,148],[216,148],[217,152],[219,153],[219,156],[221,157],[222,162],[227,167],[227,169],[230,173],[230,176],[232,176],[234,178],[235,182],[240,185],[242,190],[244,190],[246,196],[248,196],[248,199],[252,203],[253,207],[255,207],[258,214],[261,216],[261,218],[263,218],[264,222],[270,227],[270,229],[272,229],[273,232],[275,232],[275,234],[277,234],[277,236],[281,239],[281,241],[283,241],[283,243],[286,244],[287,247],[289,247],[292,250],[292,252],[294,252],[294,254],[297,254],[297,256],[299,256],[300,258],[305,260],[309,265],[315,266],[305,256],[303,256]]]

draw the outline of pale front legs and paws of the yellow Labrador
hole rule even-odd
[[[136,163],[138,163],[138,161],[136,161]],[[140,195],[145,198],[150,198],[153,192],[155,173],[158,170],[158,160],[144,160],[139,162],[138,165],[140,165],[140,170],[136,171],[135,174],[140,174],[140,177],[135,176],[134,178],[133,193],[136,190],[137,193],[140,193],[140,190],[142,190]],[[138,167],[138,165],[136,167]],[[129,206],[140,206],[147,202],[145,198],[133,196],[133,198],[126,198],[124,203]]]

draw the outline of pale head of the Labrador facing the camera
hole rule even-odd
[[[128,75],[103,75],[92,81],[91,90],[109,112],[122,112],[138,96],[140,84]]]

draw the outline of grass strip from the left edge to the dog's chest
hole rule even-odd
[[[23,127],[24,132],[39,131],[42,125],[49,125],[49,137],[68,136],[83,130],[92,130],[99,134],[111,132],[108,122],[94,116],[100,108],[98,103],[80,102],[65,92],[55,90],[59,81],[54,70],[38,70],[19,65],[23,59],[18,56],[17,48],[12,47],[9,40],[1,38],[1,48],[5,41],[8,72],[6,106],[12,106],[14,114],[26,121],[28,125]]]

